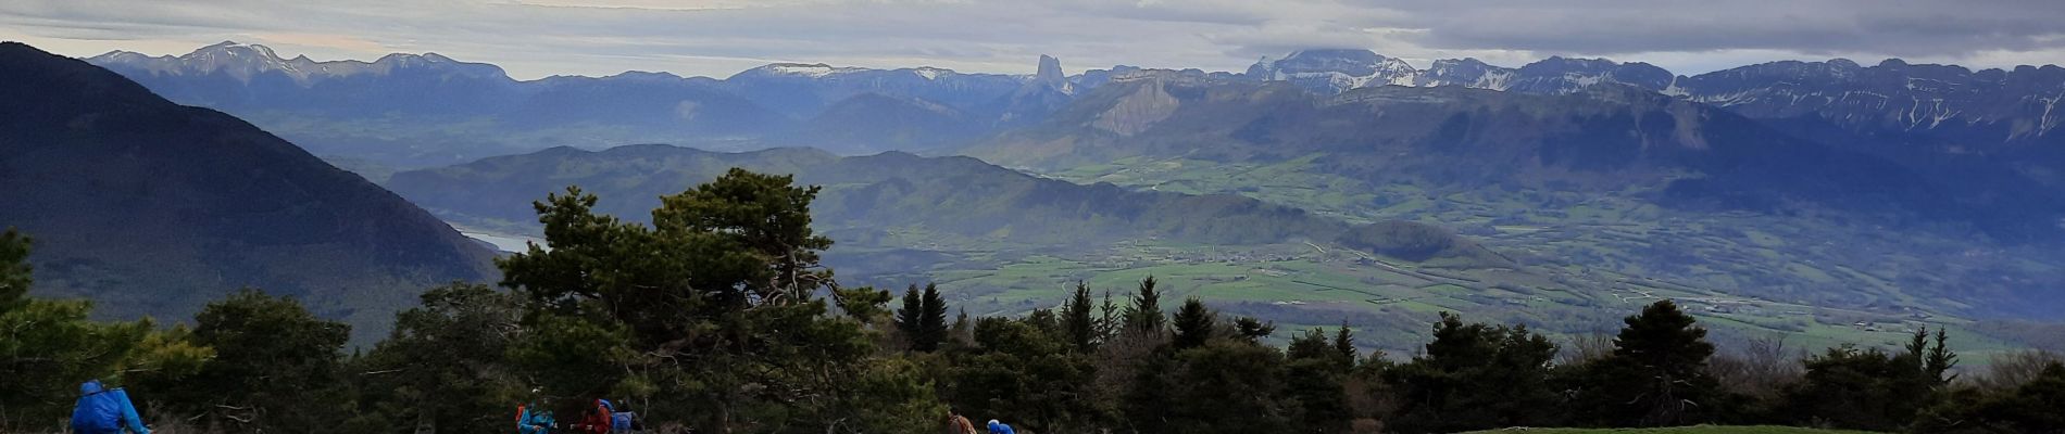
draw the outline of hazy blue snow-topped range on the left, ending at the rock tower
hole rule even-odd
[[[176,103],[252,119],[316,154],[401,169],[640,142],[919,150],[1039,119],[1068,86],[1053,80],[1053,58],[1035,76],[770,64],[725,80],[665,72],[514,80],[498,66],[438,53],[314,62],[229,41],[87,62]]]

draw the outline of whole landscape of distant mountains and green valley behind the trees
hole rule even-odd
[[[826,185],[814,212],[843,276],[940,280],[993,313],[1107,274],[1313,300],[1229,309],[1359,327],[1454,309],[1580,333],[1617,319],[1598,306],[1669,294],[1708,315],[1770,309],[1730,333],[1850,339],[1832,327],[2065,309],[2055,66],[1677,76],[1307,49],[1247,72],[1066,74],[1043,56],[1024,76],[512,80],[434,53],[312,62],[237,43],[89,62],[491,232],[533,232],[527,204],[566,185],[638,220],[729,167],[793,173]]]

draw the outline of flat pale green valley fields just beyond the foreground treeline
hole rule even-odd
[[[1786,335],[1790,348],[1811,352],[1842,343],[1892,350],[1912,329],[1947,327],[1951,346],[1968,366],[2022,348],[1970,333],[1964,329],[1970,321],[1949,315],[1914,319],[1813,306],[1586,267],[1433,267],[1320,243],[1204,247],[1132,241],[1088,253],[1008,255],[1010,251],[1020,249],[966,249],[954,251],[956,261],[929,269],[888,276],[843,269],[840,276],[865,278],[880,288],[935,282],[968,315],[1055,309],[1078,280],[1092,294],[1111,294],[1123,304],[1123,296],[1142,278],[1154,276],[1165,309],[1196,296],[1231,315],[1276,321],[1276,339],[1289,339],[1307,327],[1348,323],[1361,343],[1394,356],[1419,350],[1429,323],[1443,311],[1462,313],[1470,321],[1526,323],[1567,339],[1619,329],[1621,317],[1658,298],[1679,300],[1716,339]],[[1867,319],[1871,325],[1858,327],[1850,319]]]

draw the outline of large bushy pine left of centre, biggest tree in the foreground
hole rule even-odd
[[[578,189],[547,195],[533,206],[553,249],[496,261],[502,286],[522,294],[531,331],[512,358],[551,393],[636,389],[665,397],[653,413],[686,413],[688,426],[706,432],[739,430],[768,413],[797,430],[861,430],[847,399],[865,389],[911,389],[867,385],[871,372],[907,376],[871,364],[880,352],[869,329],[830,315],[820,296],[840,286],[820,263],[832,241],[812,228],[818,191],[789,175],[733,169],[661,197],[650,224],[597,214],[599,200]],[[840,304],[855,311],[853,300]],[[898,407],[902,420],[938,403],[871,399]],[[696,411],[679,411],[688,407]]]

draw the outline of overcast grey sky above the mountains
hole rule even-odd
[[[0,39],[64,56],[262,43],[285,58],[436,51],[516,78],[731,76],[770,62],[1245,70],[1357,47],[1425,68],[1549,56],[1697,74],[1772,60],[2065,64],[2065,0],[0,0]]]

